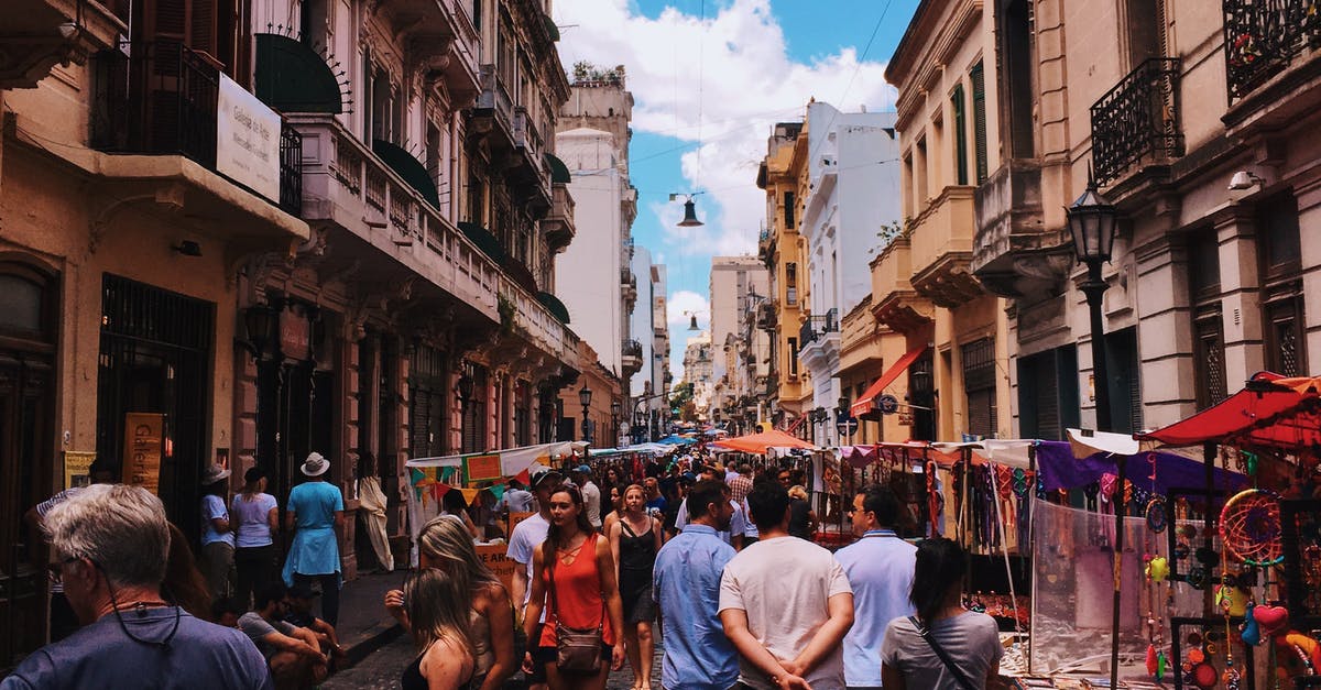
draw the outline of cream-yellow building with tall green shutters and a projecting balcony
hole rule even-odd
[[[997,140],[991,20],[982,3],[923,3],[885,73],[898,89],[905,227],[872,264],[872,309],[918,353],[904,415],[915,439],[1012,435],[1005,303],[968,268],[974,192],[1000,165],[987,145]]]

